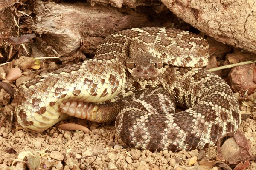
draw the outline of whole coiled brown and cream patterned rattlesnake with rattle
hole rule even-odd
[[[20,85],[17,120],[42,132],[69,116],[116,119],[126,144],[151,151],[213,145],[238,129],[240,110],[227,83],[199,68],[207,65],[208,48],[198,35],[172,28],[111,34],[93,59]],[[186,110],[175,113],[176,105]]]

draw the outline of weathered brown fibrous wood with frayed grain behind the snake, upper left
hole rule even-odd
[[[35,24],[31,30],[51,45],[59,56],[73,54],[78,48],[93,54],[108,35],[127,28],[153,26],[148,17],[128,10],[124,14],[111,6],[88,4],[55,4],[37,1]]]

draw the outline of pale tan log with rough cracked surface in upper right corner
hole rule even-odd
[[[215,40],[256,53],[255,0],[161,0]]]

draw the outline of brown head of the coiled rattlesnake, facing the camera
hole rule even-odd
[[[153,56],[130,58],[126,62],[126,67],[133,77],[156,77],[163,69],[163,59]]]

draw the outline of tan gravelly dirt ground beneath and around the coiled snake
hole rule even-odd
[[[256,93],[250,97],[255,99]],[[5,98],[6,92],[1,89],[0,99]],[[249,140],[252,154],[255,155],[256,121],[251,113],[251,104],[250,101],[244,101],[241,105],[242,121],[239,130]],[[8,119],[12,117],[13,106],[13,103],[6,104],[1,109]],[[91,135],[82,131],[61,130],[55,126],[43,133],[30,133],[21,130],[15,119],[10,124],[3,114],[0,115],[1,170],[24,170],[28,169],[27,166],[30,169],[37,167],[52,170],[203,170],[211,169],[216,161],[220,161],[216,147],[179,153],[151,153],[148,150],[125,148],[117,136],[114,123],[96,124],[81,119],[66,121],[88,127],[93,133]],[[26,162],[19,159],[24,155],[27,156]],[[247,169],[256,169],[256,163],[250,163]]]

